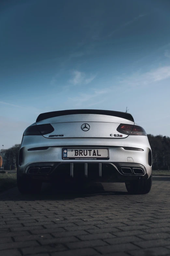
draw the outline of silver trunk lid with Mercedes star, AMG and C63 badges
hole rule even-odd
[[[125,138],[129,134],[120,133],[117,128],[120,124],[133,128],[134,121],[104,114],[70,114],[39,120],[36,124],[46,138]],[[44,135],[42,124],[50,124],[53,131]]]

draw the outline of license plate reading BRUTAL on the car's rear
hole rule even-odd
[[[63,160],[96,160],[109,159],[108,148],[63,148]]]

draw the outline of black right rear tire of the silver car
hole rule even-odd
[[[152,174],[147,180],[126,181],[125,185],[130,194],[147,194],[152,186]]]

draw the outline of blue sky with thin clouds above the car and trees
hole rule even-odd
[[[0,148],[40,113],[125,111],[170,137],[170,1],[0,3]]]

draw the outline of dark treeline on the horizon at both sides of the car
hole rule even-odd
[[[148,134],[149,144],[152,150],[152,170],[170,169],[170,137]],[[18,165],[18,153],[20,144],[15,144],[8,149],[1,149],[4,170],[14,170]]]

